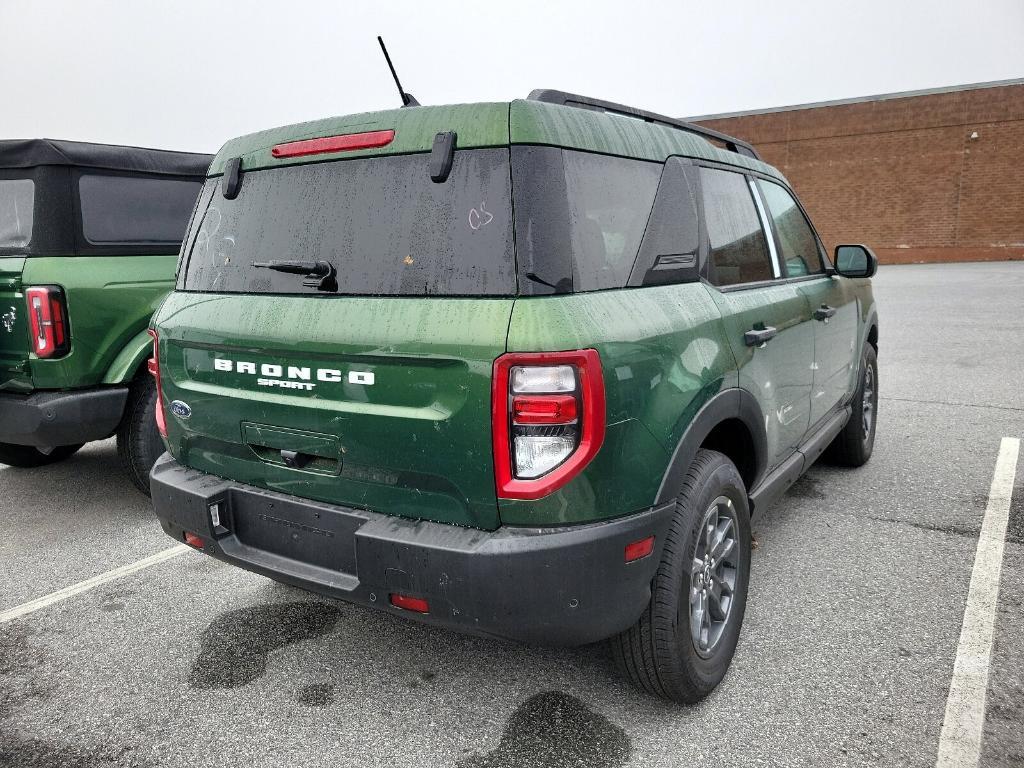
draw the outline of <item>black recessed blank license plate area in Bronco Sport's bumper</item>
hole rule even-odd
[[[356,575],[357,512],[272,494],[232,489],[231,531],[246,547],[333,571]]]

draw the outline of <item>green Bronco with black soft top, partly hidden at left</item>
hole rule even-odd
[[[210,160],[0,141],[0,464],[50,464],[117,433],[148,493],[163,445],[146,328]]]

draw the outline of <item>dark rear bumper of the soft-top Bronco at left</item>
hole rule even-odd
[[[127,387],[0,393],[0,442],[54,447],[101,440],[118,428],[127,399]]]

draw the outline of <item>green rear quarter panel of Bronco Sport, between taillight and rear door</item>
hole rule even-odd
[[[735,386],[721,315],[699,283],[519,299],[508,350],[595,348],[607,399],[604,444],[559,490],[502,500],[502,522],[600,520],[649,507],[693,415]]]

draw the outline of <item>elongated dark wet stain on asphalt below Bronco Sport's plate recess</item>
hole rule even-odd
[[[203,633],[191,668],[193,688],[237,688],[263,676],[267,655],[326,635],[341,612],[327,603],[290,602],[240,608],[219,615]]]

